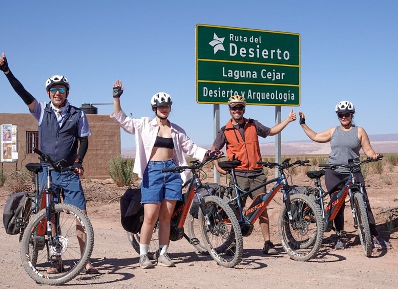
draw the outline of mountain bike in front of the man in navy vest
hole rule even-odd
[[[34,173],[35,191],[30,195],[30,213],[22,222],[21,259],[28,275],[39,284],[60,285],[76,277],[90,260],[94,232],[87,215],[70,204],[60,204],[60,193],[53,188],[52,171],[71,173],[62,167],[65,160],[53,162],[37,148],[33,151],[51,166],[29,164]],[[38,174],[47,172],[47,183],[39,190]],[[30,219],[30,220],[29,220]],[[27,223],[29,221],[29,223]],[[27,224],[26,224],[27,223]]]

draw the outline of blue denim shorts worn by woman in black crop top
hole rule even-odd
[[[160,172],[174,168],[174,160],[150,161],[145,168],[141,182],[141,204],[161,203],[163,199],[182,200],[181,175],[175,172]]]

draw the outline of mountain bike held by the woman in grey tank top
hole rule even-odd
[[[315,194],[312,196],[321,208],[324,232],[330,232],[333,229],[337,234],[340,234],[340,232],[337,232],[333,227],[333,220],[340,208],[345,205],[345,198],[348,195],[352,217],[354,219],[354,228],[358,229],[359,239],[366,257],[372,255],[372,236],[370,234],[368,214],[366,211],[367,204],[364,196],[364,187],[358,181],[358,177],[355,173],[360,171],[362,165],[369,162],[380,161],[382,158],[383,155],[380,154],[376,159],[367,158],[359,163],[353,163],[352,160],[349,160],[348,165],[320,164],[319,167],[323,168],[322,170],[307,172],[307,176],[315,180],[315,186],[317,187]],[[337,168],[349,168],[350,172],[348,176],[336,184],[336,186],[325,191],[321,186],[321,177],[325,175],[326,169],[335,170]],[[343,189],[340,190],[338,187],[341,185],[343,185]],[[329,194],[331,194],[330,201],[325,207],[324,197]]]

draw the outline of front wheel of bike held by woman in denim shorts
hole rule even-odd
[[[220,197],[204,197],[205,213],[199,209],[199,225],[207,251],[217,264],[234,267],[242,260],[243,237],[238,219],[231,207]]]

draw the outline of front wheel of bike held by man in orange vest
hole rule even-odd
[[[279,237],[291,259],[307,261],[314,257],[323,240],[323,220],[320,207],[304,194],[290,195],[290,221],[286,206],[279,214]]]

